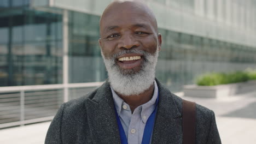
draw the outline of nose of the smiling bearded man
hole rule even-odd
[[[132,49],[139,46],[138,40],[132,34],[122,35],[118,44],[119,49]]]

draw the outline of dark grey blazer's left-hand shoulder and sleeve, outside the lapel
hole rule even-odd
[[[78,143],[79,139],[85,138],[81,137],[79,133],[91,136],[87,119],[86,101],[94,97],[96,91],[97,89],[83,97],[70,100],[61,105],[50,124],[45,143]],[[89,140],[84,139],[85,143]]]

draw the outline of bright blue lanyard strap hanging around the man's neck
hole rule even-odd
[[[159,97],[159,94],[158,94],[158,97]],[[155,122],[156,108],[157,108],[157,105],[158,105],[158,98],[156,99],[155,103],[156,103],[155,109],[151,113],[151,115],[149,116],[148,121],[147,121],[147,123],[145,125],[145,128],[144,128],[144,133],[143,133],[142,142],[141,142],[142,144],[148,144],[150,142],[150,139],[151,139],[151,134],[152,134],[153,127],[154,127],[154,122]],[[121,138],[121,143],[122,144],[128,144],[123,125],[120,121],[120,118],[118,116],[118,113],[117,113],[116,109],[115,109],[115,116],[117,117],[118,130],[119,130],[119,134],[120,134],[120,138]]]

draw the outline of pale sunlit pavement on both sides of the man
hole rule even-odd
[[[255,143],[256,92],[225,99],[183,97],[182,93],[180,95],[215,112],[222,143]],[[50,122],[44,122],[0,130],[0,143],[44,143],[49,125]]]

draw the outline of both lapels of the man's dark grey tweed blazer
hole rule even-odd
[[[172,93],[156,79],[159,105],[155,119],[152,143],[181,143],[181,111]],[[86,101],[88,123],[95,143],[121,143],[114,101],[108,80],[97,89],[94,98]]]

